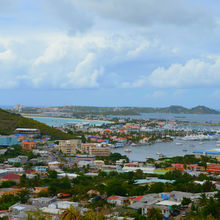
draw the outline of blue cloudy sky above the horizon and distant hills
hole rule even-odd
[[[0,105],[220,109],[219,0],[0,0]]]

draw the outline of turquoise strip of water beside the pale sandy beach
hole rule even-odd
[[[78,120],[78,119],[70,119],[70,118],[50,118],[50,117],[28,117],[32,118],[36,121],[42,122],[44,124],[47,124],[49,126],[53,127],[62,127],[66,123],[75,123],[75,122],[89,122],[91,125],[102,125],[107,122],[104,121],[90,121],[90,120]]]

